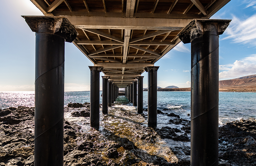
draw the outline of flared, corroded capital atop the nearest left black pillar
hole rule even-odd
[[[66,42],[71,43],[76,39],[78,32],[65,17],[56,16],[22,16],[27,22],[29,28],[36,33],[48,32],[59,35]]]

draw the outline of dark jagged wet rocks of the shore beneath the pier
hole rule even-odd
[[[115,110],[119,110],[115,114]],[[72,121],[64,121],[64,165],[67,166],[154,166],[190,165],[190,121],[174,113],[158,113],[169,117],[162,128],[145,127],[138,117],[146,120],[144,114],[136,114],[122,107],[115,107],[110,114],[102,116],[102,127],[86,132]],[[88,117],[89,103],[71,103],[65,108],[73,117]],[[115,128],[110,118],[129,121],[127,129]],[[103,123],[104,122],[104,123]],[[126,122],[125,122],[126,123]],[[167,124],[182,127],[171,128]],[[86,123],[85,123],[86,124]],[[118,125],[120,126],[121,123]],[[129,127],[134,131],[130,132]],[[34,108],[0,109],[0,166],[34,165]],[[126,138],[127,136],[128,138]],[[227,123],[219,128],[219,165],[256,165],[256,121],[240,120]],[[164,155],[150,152],[159,140],[174,141],[179,146],[166,147]],[[139,144],[143,142],[143,144]],[[143,149],[142,145],[145,149]],[[154,151],[154,150],[153,150]]]

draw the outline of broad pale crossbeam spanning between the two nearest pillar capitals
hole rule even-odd
[[[182,30],[192,19],[65,16],[75,28]],[[94,30],[95,31],[95,30]],[[98,32],[97,32],[98,33]],[[102,33],[102,32],[101,32]],[[112,37],[111,37],[112,38]],[[114,38],[112,38],[114,40]],[[120,41],[119,39],[118,41]],[[121,42],[121,41],[120,41]],[[123,42],[123,41],[122,41]]]

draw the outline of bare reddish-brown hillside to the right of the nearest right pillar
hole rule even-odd
[[[256,74],[219,81],[219,86],[256,86]]]

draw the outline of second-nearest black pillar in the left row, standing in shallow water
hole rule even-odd
[[[100,72],[103,67],[88,66],[91,70],[90,126],[100,126]]]

